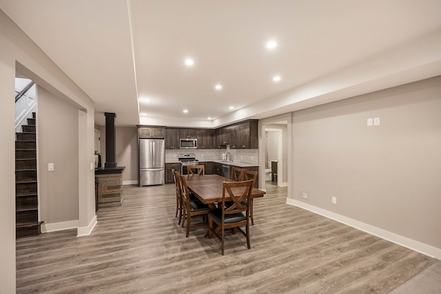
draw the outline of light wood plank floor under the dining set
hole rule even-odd
[[[267,186],[243,235],[178,226],[174,186],[125,186],[88,237],[17,239],[17,293],[388,293],[436,259],[285,204]]]

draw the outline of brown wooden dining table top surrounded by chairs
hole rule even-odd
[[[215,204],[222,202],[223,182],[234,182],[232,179],[220,175],[187,175],[187,187],[203,204],[210,208],[216,208]],[[236,188],[244,189],[244,188]],[[234,188],[233,188],[234,190]],[[265,191],[253,187],[251,197],[263,197]],[[228,201],[229,195],[226,193],[225,200]]]

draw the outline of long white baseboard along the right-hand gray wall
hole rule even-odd
[[[365,224],[364,222],[360,222],[356,219],[351,219],[349,217],[345,217],[343,215],[339,215],[338,213],[333,213],[329,210],[325,210],[322,208],[318,208],[316,206],[312,206],[311,204],[307,204],[305,202],[300,202],[295,199],[287,198],[287,204],[298,206],[300,208],[309,210],[313,213],[317,213],[318,215],[322,215],[329,219],[334,219],[337,222],[341,222],[342,224],[347,224],[353,228],[357,228],[360,231],[369,233],[371,235],[380,237],[382,239],[386,239],[387,241],[396,243],[398,245],[409,248],[413,251],[417,251],[424,255],[428,255],[430,257],[435,257],[436,259],[441,259],[441,249],[436,248],[421,242],[418,242],[413,239],[409,239],[408,237],[404,237],[402,235],[398,235],[396,233],[391,233],[389,231],[383,230],[382,228],[377,228],[376,226],[371,226],[369,224]]]

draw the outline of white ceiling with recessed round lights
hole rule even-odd
[[[440,0],[0,0],[0,8],[95,101],[101,125],[103,112],[116,112],[119,126],[220,126],[441,75]]]

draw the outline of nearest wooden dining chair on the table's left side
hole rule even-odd
[[[190,226],[192,225],[192,217],[203,216],[203,222],[194,224],[194,226],[198,225],[206,225],[205,217],[207,217],[209,212],[209,207],[207,204],[203,204],[198,199],[190,199],[189,191],[187,187],[187,180],[185,176],[180,175],[179,179],[181,180],[181,195],[183,199],[183,220],[182,227],[184,227],[185,219],[187,219],[187,233],[185,237],[188,237]]]

